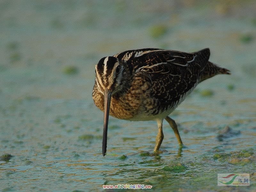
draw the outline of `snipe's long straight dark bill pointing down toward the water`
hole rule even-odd
[[[103,124],[103,140],[102,140],[102,155],[105,156],[107,151],[107,136],[108,136],[108,116],[111,100],[111,92],[105,88],[104,90],[104,124]]]

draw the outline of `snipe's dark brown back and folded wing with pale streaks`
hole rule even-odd
[[[209,56],[209,49],[194,53],[144,49],[115,55],[131,67],[135,82],[131,89],[141,90],[140,111],[146,115],[175,109],[199,83]],[[138,86],[143,81],[144,91]]]

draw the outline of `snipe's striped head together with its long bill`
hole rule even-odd
[[[129,69],[127,65],[118,58],[104,57],[95,65],[95,82],[97,88],[104,95],[104,125],[103,125],[103,156],[107,149],[108,115],[111,96],[124,90],[126,87]],[[126,80],[126,81],[125,81]]]

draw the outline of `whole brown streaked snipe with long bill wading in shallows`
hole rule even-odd
[[[168,115],[196,85],[216,74],[230,74],[209,60],[208,48],[194,53],[163,49],[128,50],[100,59],[95,65],[92,98],[104,111],[102,153],[106,153],[108,114],[119,119],[156,120],[154,152],[163,140],[163,119],[182,145],[175,121]],[[111,101],[111,102],[110,102]]]

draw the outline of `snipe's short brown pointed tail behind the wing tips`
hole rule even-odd
[[[217,74],[231,74],[229,72],[230,71],[228,69],[219,67],[218,65],[213,64],[212,62],[208,61],[204,70],[201,72],[199,82],[209,79]]]

